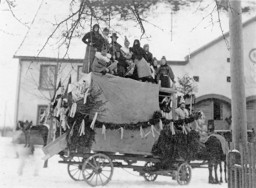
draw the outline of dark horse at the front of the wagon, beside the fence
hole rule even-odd
[[[209,183],[218,184],[217,167],[220,165],[220,182],[222,183],[222,161],[224,162],[225,182],[226,178],[226,154],[224,154],[220,140],[216,136],[210,136],[205,143],[204,157],[208,160]],[[212,176],[214,167],[215,178]]]

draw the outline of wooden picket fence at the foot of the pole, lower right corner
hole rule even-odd
[[[256,188],[256,144],[248,143],[246,150],[240,143],[238,152],[230,142],[229,148],[228,188]]]

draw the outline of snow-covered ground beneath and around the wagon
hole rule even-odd
[[[26,153],[24,144],[17,144],[16,150],[20,158],[15,158],[15,148],[12,138],[0,137],[0,188],[84,188],[90,187],[84,181],[74,181],[68,175],[67,164],[58,163],[62,160],[58,155],[48,160],[48,168],[42,168],[44,156],[42,146],[36,145],[33,156],[25,158],[22,176],[18,175],[18,168]],[[140,162],[141,163],[141,162]],[[38,176],[34,176],[38,168]],[[192,169],[192,180],[189,188],[226,188],[227,183],[208,184],[208,168]],[[220,175],[218,173],[218,175]],[[224,175],[224,174],[223,174]],[[99,186],[102,187],[102,186]],[[132,169],[114,168],[112,180],[104,187],[107,188],[180,188],[177,181],[171,177],[158,176],[156,181],[147,182],[138,172]]]

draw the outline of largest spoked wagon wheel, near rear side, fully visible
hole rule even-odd
[[[112,160],[104,154],[94,154],[82,165],[84,180],[93,187],[106,185],[111,180],[113,170]]]

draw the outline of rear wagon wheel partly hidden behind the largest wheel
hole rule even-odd
[[[68,174],[69,174],[69,176],[75,181],[84,180],[84,177],[82,175],[83,158],[82,157],[73,157],[70,160],[70,162],[71,163],[68,163]],[[72,164],[72,162],[81,162],[81,164]],[[91,176],[92,175],[93,174],[91,174]]]

